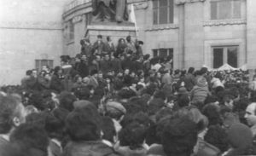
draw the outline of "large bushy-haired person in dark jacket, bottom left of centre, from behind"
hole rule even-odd
[[[67,116],[66,127],[71,141],[63,156],[114,156],[111,147],[101,141],[99,114],[89,107],[78,107]]]

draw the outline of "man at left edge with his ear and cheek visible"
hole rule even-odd
[[[9,143],[13,130],[26,121],[25,107],[14,95],[0,97],[0,153]]]

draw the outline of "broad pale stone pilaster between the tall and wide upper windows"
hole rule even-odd
[[[204,41],[204,0],[177,0],[184,5],[184,65],[201,68],[203,65]]]

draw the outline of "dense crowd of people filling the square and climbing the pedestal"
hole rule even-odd
[[[256,77],[173,70],[172,56],[143,55],[142,41],[97,38],[2,87],[1,156],[256,154]]]

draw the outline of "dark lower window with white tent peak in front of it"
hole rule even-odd
[[[238,46],[213,47],[213,68],[223,66],[225,63],[237,67]]]

